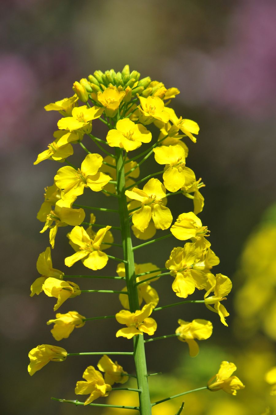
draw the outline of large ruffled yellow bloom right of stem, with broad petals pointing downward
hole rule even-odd
[[[172,288],[177,297],[187,298],[188,295],[206,287],[206,275],[202,271],[192,269],[198,252],[195,244],[186,243],[184,248],[177,247],[171,251],[165,267],[170,269],[170,275],[175,278]]]

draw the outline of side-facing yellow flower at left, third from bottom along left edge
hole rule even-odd
[[[48,297],[57,298],[57,304],[54,305],[56,311],[68,298],[74,298],[81,294],[79,286],[71,281],[59,281],[56,278],[49,277],[44,281],[42,290]]]

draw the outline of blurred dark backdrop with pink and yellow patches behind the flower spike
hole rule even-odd
[[[4,414],[128,415],[127,410],[75,407],[50,400],[51,396],[81,400],[74,394],[75,383],[87,366],[96,366],[96,357],[50,362],[32,378],[27,373],[30,349],[57,344],[46,325],[54,318],[54,299],[43,293],[29,297],[30,284],[39,276],[37,257],[49,246],[48,232],[39,234],[42,223],[36,214],[44,187],[52,185],[60,166],[48,160],[33,166],[37,154],[52,142],[59,119],[58,113],[47,113],[43,107],[73,95],[73,82],[96,69],[121,71],[126,63],[141,78],[150,76],[167,88],[179,88],[180,95],[172,103],[177,115],[200,125],[197,144],[186,140],[190,148],[187,166],[206,184],[202,189],[205,207],[199,216],[211,230],[212,249],[221,260],[214,271],[229,276],[234,286],[226,304],[229,327],[204,305],[162,310],[156,316],[158,335],[173,333],[178,318],[211,320],[214,332],[200,342],[200,354],[193,359],[187,345],[175,338],[147,345],[148,371],[163,372],[149,380],[153,400],[205,386],[221,361],[228,360],[237,365],[237,376],[246,388],[237,397],[223,391],[187,395],[185,414],[273,413],[276,397],[269,395],[264,376],[276,365],[275,20],[273,0],[0,2]],[[95,135],[104,134],[96,122],[93,128]],[[76,146],[74,150],[78,163],[85,154]],[[140,177],[153,171],[151,159]],[[192,210],[191,201],[180,196],[169,200],[174,217]],[[95,206],[113,203],[103,194],[93,193],[93,198]],[[95,214],[98,223],[116,225],[113,214]],[[67,232],[68,228],[59,229],[52,259],[54,268],[70,274],[73,271],[64,270],[64,257],[72,253]],[[136,262],[163,267],[172,247],[173,241],[166,239],[152,250],[140,249]],[[113,250],[113,255],[119,254]],[[115,275],[115,267],[109,261],[104,275]],[[74,268],[76,274],[86,271],[82,264]],[[82,289],[92,288],[91,282],[74,281]],[[155,283],[160,305],[177,300],[171,283],[172,279]],[[122,285],[96,280],[92,284],[103,289]],[[202,292],[191,298],[202,299]],[[77,310],[91,317],[114,314],[120,307],[116,296],[83,294],[68,300],[59,312]],[[116,330],[111,320],[87,322],[58,345],[68,352],[130,349],[126,339],[115,338]],[[119,363],[133,373],[129,358]],[[129,394],[111,393],[108,403],[123,400],[133,405]],[[178,398],[158,405],[154,414],[173,415],[181,402]]]

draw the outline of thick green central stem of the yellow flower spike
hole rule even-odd
[[[123,154],[121,149],[116,149],[116,171],[117,171],[117,194],[119,203],[119,215],[121,222],[121,234],[123,243],[123,253],[126,269],[126,286],[128,288],[128,300],[131,312],[139,310],[138,293],[136,288],[136,275],[134,266],[134,256],[132,250],[130,225],[128,219],[128,208],[125,195],[125,172],[123,166]],[[151,414],[150,393],[148,389],[147,366],[145,360],[145,347],[143,334],[138,334],[133,338],[134,361],[136,366],[136,376],[139,393],[140,415]]]

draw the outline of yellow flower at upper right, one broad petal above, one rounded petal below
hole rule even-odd
[[[170,192],[176,192],[184,185],[190,187],[195,182],[195,173],[185,166],[185,150],[182,146],[160,146],[153,151],[155,161],[166,165],[163,180]]]

